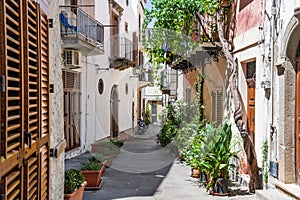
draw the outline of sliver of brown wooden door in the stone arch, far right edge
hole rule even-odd
[[[297,59],[296,69],[296,110],[295,110],[295,155],[296,155],[296,182],[300,184],[300,57]]]

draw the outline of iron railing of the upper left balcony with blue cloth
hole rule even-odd
[[[61,6],[62,35],[74,35],[95,46],[104,45],[104,26],[80,8]]]

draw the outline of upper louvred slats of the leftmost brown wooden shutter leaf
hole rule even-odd
[[[23,94],[23,52],[22,44],[22,8],[15,1],[1,1],[3,13],[2,26],[4,41],[1,74],[5,77],[6,90],[2,93],[1,107],[4,109],[1,123],[1,155],[8,158],[22,148],[22,117],[24,116],[21,102]]]

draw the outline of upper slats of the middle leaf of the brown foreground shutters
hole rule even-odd
[[[27,5],[26,5],[27,4]],[[40,102],[40,64],[39,64],[39,18],[37,5],[31,1],[24,3],[26,9],[24,18],[24,78],[25,78],[25,100],[24,100],[24,130],[31,133],[31,140],[35,141],[39,134],[39,102]],[[25,141],[29,143],[29,141]]]

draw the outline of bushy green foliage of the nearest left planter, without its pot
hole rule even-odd
[[[69,169],[65,172],[64,193],[71,194],[84,183],[84,176],[78,169]]]

